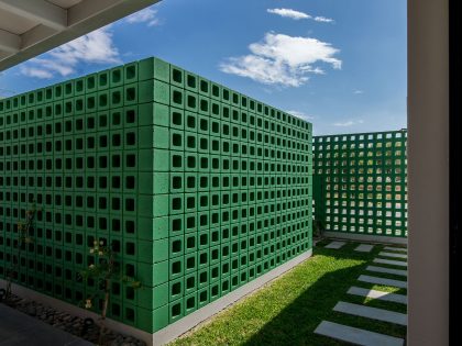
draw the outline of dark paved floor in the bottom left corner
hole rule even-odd
[[[0,303],[0,346],[91,346],[94,344]]]

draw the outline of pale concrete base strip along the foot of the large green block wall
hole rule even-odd
[[[274,268],[273,270],[266,272],[265,275],[256,278],[255,280],[252,280],[249,283],[245,283],[244,286],[240,287],[239,289],[228,293],[227,295],[216,300],[215,302],[195,311],[194,313],[187,315],[186,317],[166,326],[165,328],[154,333],[150,334],[143,331],[140,331],[138,328],[134,328],[132,326],[129,326],[127,324],[113,321],[113,320],[106,320],[106,325],[109,328],[116,330],[122,334],[132,335],[134,337],[138,337],[142,341],[144,341],[147,345],[154,345],[154,346],[161,346],[165,345],[173,339],[177,338],[178,336],[185,334],[186,332],[190,331],[201,322],[206,321],[207,319],[213,316],[221,310],[226,309],[227,306],[235,303],[237,301],[241,300],[245,295],[252,293],[253,291],[257,290],[265,283],[276,279],[284,272],[290,270],[295,266],[301,264],[302,261],[307,260],[312,255],[312,249],[307,250],[306,253],[290,259],[289,261]],[[0,279],[0,284],[6,284],[7,281]],[[61,301],[58,299],[42,294],[40,292],[30,290],[28,288],[24,288],[22,286],[14,284],[12,286],[12,291],[14,294],[18,294],[23,298],[32,299],[35,301],[38,301],[43,304],[47,304],[50,306],[53,306],[57,310],[68,312],[70,314],[74,314],[76,316],[80,317],[91,317],[95,321],[98,321],[99,315],[77,308],[75,305],[72,305],[69,303],[66,303],[64,301]]]

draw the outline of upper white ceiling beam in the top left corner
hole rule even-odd
[[[55,30],[67,27],[67,11],[45,0],[0,0],[0,10],[38,21]]]

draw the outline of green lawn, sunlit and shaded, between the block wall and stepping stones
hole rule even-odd
[[[404,289],[356,281],[361,274],[403,280],[396,276],[365,271],[383,246],[375,246],[372,253],[363,254],[353,252],[356,243],[349,243],[337,250],[320,245],[314,248],[309,260],[170,345],[343,345],[312,333],[322,320],[404,337],[404,326],[332,311],[342,300],[406,312],[406,306],[398,303],[346,294],[351,286],[406,294]]]

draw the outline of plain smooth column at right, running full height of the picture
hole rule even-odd
[[[408,0],[408,345],[449,343],[448,0]]]

